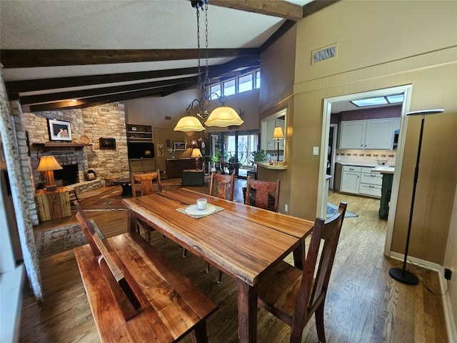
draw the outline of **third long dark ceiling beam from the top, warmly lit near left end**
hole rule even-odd
[[[61,91],[56,93],[46,93],[29,96],[19,96],[22,105],[40,104],[51,101],[64,101],[68,99],[81,99],[89,96],[99,96],[104,94],[116,94],[124,91],[139,91],[141,89],[153,89],[157,87],[171,86],[177,84],[196,84],[196,76],[180,79],[168,79],[152,82],[141,82],[138,84],[124,84],[122,86],[111,86],[101,88],[83,89],[80,91]]]

